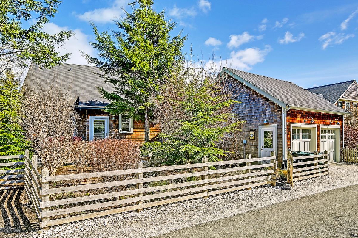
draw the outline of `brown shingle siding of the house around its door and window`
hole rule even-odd
[[[81,108],[81,111],[76,109],[79,113],[79,123],[78,129],[76,132],[76,136],[80,136],[82,140],[89,140],[89,116],[109,116],[110,117],[110,135],[109,138],[127,138],[138,143],[144,143],[144,123],[141,121],[133,122],[133,133],[132,134],[124,134],[119,133],[118,128],[118,116],[116,116],[116,120],[112,120],[112,115],[109,115],[107,112],[104,112],[99,109],[84,109]],[[161,141],[158,137],[160,133],[159,125],[150,124],[150,141]]]

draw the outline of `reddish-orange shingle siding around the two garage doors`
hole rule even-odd
[[[308,119],[308,117],[313,117],[314,123],[310,123],[309,121],[304,123],[304,119]],[[318,112],[308,112],[308,111],[299,111],[299,110],[289,110],[287,111],[287,148],[291,148],[291,123],[302,123],[305,125],[317,125],[317,150],[320,152],[320,125],[331,125],[330,121],[334,121],[334,119],[338,119],[340,123],[340,151],[341,155],[343,152],[343,115],[334,115],[328,113],[318,113]],[[335,121],[336,123],[337,121]],[[335,124],[332,124],[335,125]]]

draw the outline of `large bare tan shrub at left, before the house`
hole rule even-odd
[[[36,90],[24,88],[19,124],[50,175],[71,161],[69,150],[77,122],[73,102],[60,86],[38,86]]]

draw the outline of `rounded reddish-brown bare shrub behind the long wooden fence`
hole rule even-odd
[[[97,171],[113,171],[136,168],[140,161],[139,145],[129,139],[103,139],[91,142]],[[128,174],[103,177],[106,182],[129,179]],[[125,186],[109,187],[110,192],[123,191]]]

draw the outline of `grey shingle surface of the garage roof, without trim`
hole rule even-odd
[[[255,85],[262,91],[277,98],[286,105],[312,108],[325,111],[345,112],[342,108],[321,98],[310,91],[305,90],[292,82],[274,79],[262,75],[251,74],[241,70],[225,67],[233,74],[241,77],[244,81]]]

